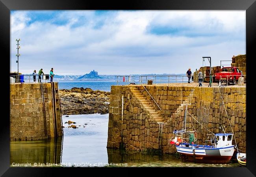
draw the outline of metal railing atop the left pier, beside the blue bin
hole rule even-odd
[[[39,83],[39,76],[41,82],[48,82],[50,80],[49,74],[35,75],[32,74],[10,75],[10,83]],[[12,77],[12,78],[11,78]]]

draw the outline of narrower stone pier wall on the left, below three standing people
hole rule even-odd
[[[10,84],[10,139],[62,136],[58,83]]]

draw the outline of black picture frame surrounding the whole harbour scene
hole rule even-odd
[[[254,44],[256,39],[256,2],[255,0],[129,0],[129,1],[97,1],[97,0],[0,0],[0,44],[1,57],[3,61],[10,59],[10,11],[11,10],[246,10],[246,55],[247,55],[247,94],[252,97],[252,62],[255,60]],[[6,73],[9,72],[8,67]],[[255,70],[255,69],[254,69]],[[5,70],[4,70],[5,72]],[[8,78],[2,77],[4,85],[8,85]],[[9,87],[4,86],[3,93],[8,93]],[[8,105],[9,96],[3,101]],[[248,97],[247,97],[248,98]],[[253,103],[247,99],[247,167],[246,168],[136,168],[142,170],[144,175],[147,173],[156,172],[158,175],[197,175],[197,176],[255,176],[256,175],[256,140],[254,138],[254,114],[252,112]],[[8,107],[8,106],[7,106]],[[94,172],[106,171],[113,175],[122,175],[118,173],[119,170],[127,170],[127,168],[10,168],[9,165],[9,112],[7,109],[2,109],[7,116],[2,116],[1,136],[0,136],[0,175],[2,176],[47,176],[52,175],[53,172],[58,172],[58,175],[65,173],[66,175],[77,175],[78,171],[83,170],[84,175],[88,175],[88,170]],[[131,168],[128,168],[129,170]],[[87,172],[86,172],[87,171]],[[115,171],[115,172],[114,172]],[[85,173],[84,173],[85,172]],[[127,172],[129,175],[137,173]],[[102,173],[102,175],[106,175]]]

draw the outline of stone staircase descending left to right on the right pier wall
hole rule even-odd
[[[141,90],[130,87],[129,88],[132,94],[134,95],[135,99],[141,104],[141,108],[150,115],[152,120],[156,122],[164,122],[163,113],[157,107],[155,107],[154,103],[142,94]]]

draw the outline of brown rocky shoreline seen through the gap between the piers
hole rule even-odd
[[[59,90],[59,96],[64,115],[109,113],[110,92],[74,87]]]

